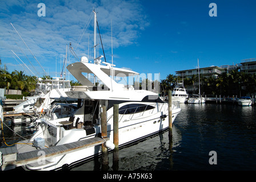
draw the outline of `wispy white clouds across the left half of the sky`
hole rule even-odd
[[[13,60],[11,52],[13,50],[21,56],[23,61],[26,61],[22,53],[24,51],[31,62],[37,64],[10,23],[13,23],[38,61],[47,68],[52,67],[50,63],[53,60],[55,63],[55,56],[65,54],[66,44],[68,48],[70,42],[73,47],[77,46],[79,36],[93,8],[97,11],[105,53],[111,48],[111,20],[113,22],[113,48],[135,43],[140,31],[149,26],[146,16],[143,15],[142,5],[135,0],[46,0],[43,1],[46,6],[45,17],[38,17],[38,3],[38,1],[0,1],[0,56],[2,61],[5,58]],[[89,54],[93,55],[91,48],[93,47],[93,23],[92,20],[75,50],[78,57],[88,53],[88,34],[90,35]],[[101,49],[101,46],[99,48]]]

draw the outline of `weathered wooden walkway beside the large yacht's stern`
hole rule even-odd
[[[24,166],[26,164],[37,162],[37,160],[39,158],[42,158],[42,155],[38,155],[39,151],[45,152],[44,157],[45,157],[45,159],[48,159],[48,158],[53,158],[53,157],[57,157],[57,156],[64,155],[64,154],[69,154],[70,152],[82,150],[84,148],[97,146],[98,144],[102,144],[104,142],[105,142],[104,139],[95,137],[95,138],[81,140],[78,142],[62,144],[59,146],[53,146],[53,147],[49,147],[49,148],[43,148],[41,150],[24,152],[21,154],[17,154],[18,151],[16,149],[16,146],[0,148],[0,152],[2,152],[1,169],[9,170],[9,169],[13,169],[18,166]]]

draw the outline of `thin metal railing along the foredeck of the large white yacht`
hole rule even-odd
[[[171,102],[171,108],[174,109],[178,109],[179,108],[179,101],[175,101],[175,102]],[[149,107],[151,107],[152,109],[148,109]],[[125,109],[119,109],[118,113],[119,113],[119,121],[122,121],[122,118],[126,115],[129,114],[129,119],[133,119],[134,114],[139,113],[140,116],[142,116],[143,114],[145,114],[145,111],[149,111],[149,114],[153,114],[154,110],[157,109],[158,112],[161,112],[163,110],[168,110],[167,105],[165,103],[155,103],[155,104],[150,104],[150,105],[140,105],[140,106],[134,106],[134,107],[129,107],[129,108],[125,108]],[[120,114],[122,113],[122,114]],[[113,118],[113,114],[110,115],[110,117],[107,119],[107,122]]]

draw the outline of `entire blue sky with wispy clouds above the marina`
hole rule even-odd
[[[46,16],[38,16],[38,3],[45,3]],[[209,16],[210,3],[217,5],[217,16]],[[162,80],[175,71],[197,68],[197,59],[200,67],[238,64],[256,57],[255,7],[256,2],[248,0],[0,0],[1,67],[6,64],[9,72],[24,70],[13,50],[35,75],[43,75],[10,23],[50,76],[55,76],[56,57],[59,76],[70,42],[80,58],[87,56],[89,40],[91,60],[93,20],[84,34],[83,28],[93,8],[107,62],[111,62],[112,20],[114,64],[118,68],[161,73]],[[69,54],[69,63],[77,61]],[[103,55],[101,47],[99,55]],[[27,69],[25,73],[32,75]]]

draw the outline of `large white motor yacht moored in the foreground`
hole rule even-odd
[[[94,12],[95,13],[95,12]],[[95,13],[95,21],[96,13]],[[95,31],[94,31],[95,34]],[[95,42],[94,42],[95,46]],[[87,57],[67,66],[69,72],[82,84],[73,86],[66,92],[69,98],[77,98],[81,106],[73,117],[46,121],[41,118],[38,131],[30,140],[22,143],[33,143],[41,140],[46,147],[58,146],[97,137],[101,134],[101,109],[106,106],[107,137],[113,142],[113,105],[119,105],[119,146],[124,146],[139,139],[149,137],[169,126],[169,117],[174,122],[181,111],[179,103],[173,103],[170,108],[157,93],[149,90],[136,90],[133,85],[123,85],[115,81],[114,77],[137,76],[139,73],[128,69],[116,68],[115,65],[101,61],[95,57],[95,64],[89,63]],[[102,85],[91,82],[83,73],[93,74],[101,80]],[[169,116],[168,110],[172,109]],[[63,124],[69,121],[69,126]],[[17,144],[19,153],[37,150],[29,144]],[[27,170],[61,169],[64,165],[74,165],[94,155],[101,153],[100,146],[83,148],[60,155],[41,163],[31,163],[23,166]]]

